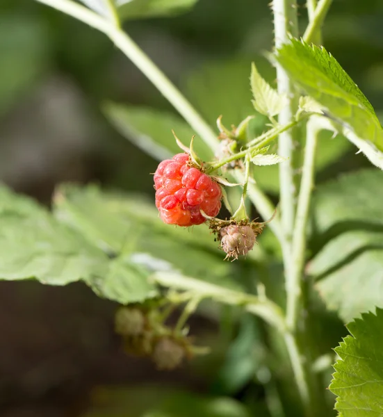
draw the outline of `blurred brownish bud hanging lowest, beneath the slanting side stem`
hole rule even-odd
[[[170,337],[163,337],[154,346],[152,359],[158,369],[171,370],[181,364],[185,354],[184,346]]]

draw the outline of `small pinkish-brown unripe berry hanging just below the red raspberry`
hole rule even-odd
[[[220,229],[221,247],[227,253],[226,258],[238,259],[238,255],[245,255],[252,250],[255,234],[250,224],[229,224]]]

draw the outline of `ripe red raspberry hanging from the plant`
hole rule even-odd
[[[200,209],[211,217],[220,211],[220,186],[188,162],[188,154],[174,155],[162,161],[154,174],[156,207],[165,223],[193,226],[206,220]]]

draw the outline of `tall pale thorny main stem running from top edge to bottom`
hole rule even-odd
[[[289,34],[297,37],[298,35],[298,17],[297,3],[295,0],[274,0],[272,10],[274,13],[275,28],[275,48],[279,49],[283,44],[289,42]],[[288,97],[288,106],[279,113],[279,123],[282,125],[291,123],[295,115],[298,104],[298,96],[286,72],[280,65],[277,65],[277,83],[278,92]],[[282,210],[282,228],[284,231],[284,246],[282,253],[284,258],[284,274],[286,279],[286,296],[288,298],[288,309],[300,311],[302,304],[299,303],[301,277],[298,277],[298,283],[293,275],[293,232],[295,223],[296,196],[298,193],[295,184],[295,170],[299,168],[299,138],[296,137],[295,129],[283,132],[279,135],[278,154],[286,161],[279,164],[279,186],[280,186],[280,206]],[[297,289],[298,286],[298,289]],[[292,292],[293,291],[293,292]],[[289,301],[290,300],[290,301]],[[293,305],[292,305],[293,304]],[[286,311],[286,318],[291,316]],[[294,316],[295,318],[295,316]],[[296,334],[298,321],[290,322],[287,331],[284,332],[288,355],[291,360],[291,366],[295,375],[295,382],[298,386],[298,393],[304,409],[305,416],[315,414],[312,409],[310,384],[312,381],[307,375],[304,365],[304,354],[300,351],[298,345],[298,335]]]

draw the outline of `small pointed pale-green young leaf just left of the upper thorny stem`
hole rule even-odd
[[[271,88],[270,84],[261,77],[254,63],[252,63],[250,84],[254,96],[252,104],[261,115],[273,117],[278,115],[282,108],[286,106],[286,97],[279,95],[274,88]]]

